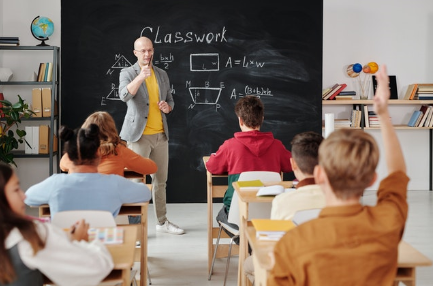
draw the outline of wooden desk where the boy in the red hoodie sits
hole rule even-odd
[[[203,162],[206,167],[206,162],[209,160],[209,156],[203,157]],[[215,221],[215,217],[213,215],[213,201],[216,198],[223,198],[224,194],[227,190],[227,180],[225,184],[216,185],[214,184],[214,179],[216,178],[227,178],[227,174],[222,175],[214,175],[206,170],[206,180],[207,180],[207,245],[208,245],[208,273],[212,264],[212,257],[215,250],[215,244],[213,242],[214,239],[218,237],[218,227],[214,227],[213,223]],[[222,231],[221,238],[229,238],[229,236]],[[216,258],[227,257],[229,250],[229,244],[221,243],[218,246],[218,252],[216,254]],[[239,253],[239,247],[237,245],[233,245],[232,247],[232,255],[237,255]]]

